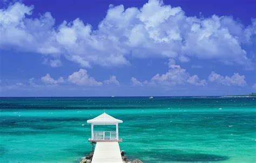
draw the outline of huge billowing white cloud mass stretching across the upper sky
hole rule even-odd
[[[56,25],[50,12],[31,18],[32,10],[19,2],[0,10],[0,48],[63,55],[84,67],[129,64],[131,56],[181,62],[197,57],[253,66],[245,47],[253,45],[255,19],[244,26],[228,16],[188,17],[180,7],[150,0],[140,9],[111,5],[98,29],[92,30],[79,18]]]

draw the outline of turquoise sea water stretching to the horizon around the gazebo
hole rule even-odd
[[[91,150],[86,120],[104,110],[124,121],[131,159],[256,162],[252,97],[0,98],[0,108],[0,162],[78,162]]]

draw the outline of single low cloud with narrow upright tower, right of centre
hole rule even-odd
[[[190,74],[176,65],[174,59],[169,59],[169,71],[164,74],[156,74],[150,80],[151,84],[157,84],[162,86],[174,86],[183,84],[192,84],[196,86],[205,86],[206,80],[200,80],[197,75],[190,76]]]

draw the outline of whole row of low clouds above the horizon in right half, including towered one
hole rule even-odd
[[[176,65],[174,59],[169,59],[169,71],[164,74],[157,73],[149,81],[144,82],[132,77],[132,86],[164,86],[173,87],[176,85],[195,85],[195,86],[206,86],[208,82],[217,83],[225,86],[246,86],[245,76],[239,73],[234,73],[231,77],[221,76],[214,71],[208,76],[208,79],[200,80],[197,74],[190,75],[186,69],[182,69],[180,65]],[[255,87],[255,86],[253,86]]]

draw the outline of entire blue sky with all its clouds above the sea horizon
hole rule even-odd
[[[256,1],[0,1],[0,96],[256,92]]]

